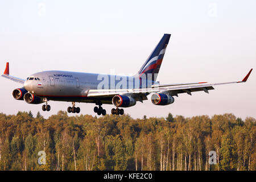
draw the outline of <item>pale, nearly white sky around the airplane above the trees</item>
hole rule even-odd
[[[163,34],[171,34],[158,80],[240,81],[256,65],[256,1],[0,1],[0,68],[10,75],[63,70],[136,73]],[[150,100],[125,108],[134,118],[233,113],[256,118],[256,70],[246,83],[179,94],[174,104]],[[2,74],[1,73],[1,74]],[[0,112],[37,111],[48,118],[70,102],[26,104],[12,96],[21,84],[0,77]],[[77,103],[82,114],[94,104]],[[113,105],[103,105],[107,113]],[[75,114],[69,114],[75,115]]]

